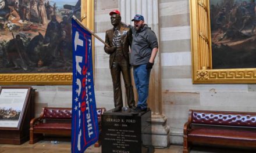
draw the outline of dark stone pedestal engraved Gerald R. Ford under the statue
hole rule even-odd
[[[153,153],[151,144],[151,111],[138,115],[129,111],[102,114],[102,153]]]

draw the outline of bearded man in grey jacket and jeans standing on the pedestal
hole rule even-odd
[[[133,42],[130,64],[133,66],[133,77],[138,93],[137,107],[131,112],[138,114],[147,110],[150,71],[157,56],[158,41],[154,31],[144,23],[143,16],[136,14],[131,21],[134,21],[134,27],[131,27]]]

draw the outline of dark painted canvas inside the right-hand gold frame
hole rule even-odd
[[[210,0],[212,68],[256,67],[254,0]]]

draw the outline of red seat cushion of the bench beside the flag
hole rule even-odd
[[[71,123],[40,123],[34,130],[71,130]]]

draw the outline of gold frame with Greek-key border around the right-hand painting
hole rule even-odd
[[[193,83],[256,83],[256,68],[212,69],[210,0],[190,0]]]

